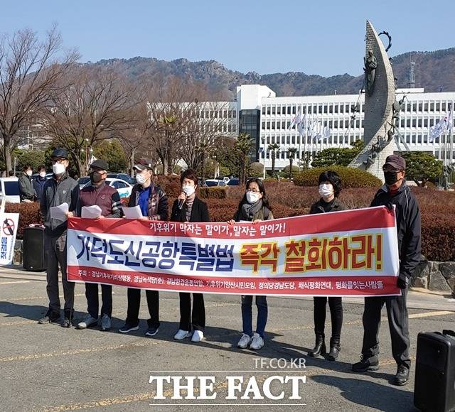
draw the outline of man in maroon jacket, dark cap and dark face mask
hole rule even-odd
[[[95,160],[90,165],[91,185],[80,191],[79,203],[75,215],[82,215],[82,207],[97,205],[101,209],[99,219],[105,217],[122,217],[122,201],[120,195],[106,184],[107,163],[102,159]],[[97,325],[99,307],[98,283],[85,283],[85,297],[87,298],[87,316],[77,324],[78,329],[85,329]],[[112,317],[112,286],[101,285],[101,329],[110,330]]]

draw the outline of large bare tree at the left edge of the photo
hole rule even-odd
[[[0,146],[11,170],[11,152],[17,147],[19,129],[31,125],[50,92],[79,58],[73,50],[58,58],[62,40],[55,26],[43,41],[30,30],[0,37]]]

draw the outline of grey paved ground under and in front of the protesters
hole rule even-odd
[[[85,311],[84,288],[76,286],[77,318]],[[200,344],[175,342],[178,327],[178,296],[161,293],[161,327],[154,338],[141,330],[121,335],[126,313],[124,288],[114,288],[113,330],[66,330],[57,324],[38,325],[45,313],[47,298],[42,275],[0,271],[0,405],[3,411],[237,411],[243,404],[258,410],[291,411],[413,411],[412,381],[405,387],[390,384],[396,365],[390,352],[386,314],[383,313],[380,341],[381,364],[378,372],[354,374],[350,364],[359,359],[362,339],[358,300],[344,304],[342,352],[339,362],[306,357],[314,344],[312,302],[309,299],[269,298],[269,322],[266,346],[259,352],[237,349],[241,329],[240,303],[237,296],[205,296],[208,327]],[[412,293],[410,298],[412,357],[415,357],[419,331],[455,329],[455,300],[444,296]],[[146,318],[143,296],[141,318]],[[328,316],[328,318],[330,318]],[[330,327],[330,325],[329,325]],[[262,361],[260,359],[263,359]],[[275,370],[271,359],[287,359],[287,370]],[[291,359],[304,359],[306,368],[292,369]],[[263,362],[262,367],[260,362]],[[282,366],[284,366],[284,361]],[[413,365],[414,366],[414,365]],[[175,372],[149,372],[175,371]],[[205,372],[177,372],[205,371]],[[226,372],[250,371],[250,372]],[[171,399],[171,386],[164,386],[165,400],[157,401],[154,376],[215,376],[217,398],[210,401]],[[285,391],[281,401],[226,400],[226,376],[243,376],[242,392],[251,376],[259,391],[269,376],[306,376],[301,384],[300,400],[289,400],[291,384],[274,381],[272,394]],[[185,382],[182,382],[185,383]],[[250,385],[254,382],[250,381]],[[238,384],[238,382],[237,382]],[[195,396],[198,396],[196,385]],[[254,389],[254,386],[250,386]],[[259,394],[260,395],[260,394]],[[253,392],[250,394],[252,398]],[[160,406],[159,403],[167,403]],[[179,403],[191,403],[183,406]],[[200,406],[210,403],[210,406]],[[287,406],[292,403],[294,406]],[[302,405],[304,404],[304,406]],[[255,409],[253,409],[255,410]]]

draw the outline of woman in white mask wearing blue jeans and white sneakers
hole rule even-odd
[[[265,194],[264,183],[258,178],[251,178],[247,181],[247,190],[240,200],[234,219],[228,221],[228,224],[235,222],[253,222],[258,223],[262,220],[273,219],[272,210]],[[240,337],[237,347],[258,350],[264,346],[264,332],[267,324],[267,298],[265,296],[256,296],[257,306],[257,323],[256,332],[252,332],[252,300],[251,295],[242,295],[242,325],[243,334]]]

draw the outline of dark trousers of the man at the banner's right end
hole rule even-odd
[[[382,306],[387,308],[392,355],[397,364],[411,367],[410,332],[406,307],[407,290],[401,296],[378,296],[365,298],[363,311],[363,347],[362,354],[371,357],[379,353],[379,327]]]

